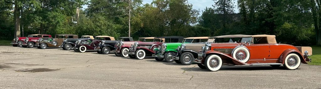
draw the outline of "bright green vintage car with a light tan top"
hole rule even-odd
[[[202,43],[207,42],[208,37],[188,37],[184,38],[183,42],[184,44],[189,43]],[[162,44],[160,48],[155,48],[152,56],[155,57],[155,60],[157,61],[163,61],[165,59],[166,62],[173,62],[174,59],[172,57],[177,52],[177,47],[180,46],[182,43],[166,43]]]

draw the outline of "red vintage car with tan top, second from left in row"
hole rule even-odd
[[[51,35],[42,34],[42,35],[38,35],[38,37],[26,37],[26,39],[24,40],[24,42],[22,44],[22,47],[33,48],[35,46],[37,40],[39,40],[41,38],[51,38]]]

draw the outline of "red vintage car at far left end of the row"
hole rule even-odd
[[[42,37],[41,34],[33,34],[33,35],[28,35],[27,37]],[[51,37],[51,35],[50,35]],[[15,39],[12,40],[12,42],[10,44],[12,44],[12,46],[16,47],[22,47],[22,44],[24,43],[24,40],[26,39],[26,37],[16,37]]]

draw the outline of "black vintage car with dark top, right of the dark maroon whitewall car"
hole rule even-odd
[[[120,45],[123,45],[122,42],[133,42],[132,37],[118,37],[116,41],[103,40],[99,43],[99,46],[95,48],[97,53],[109,54],[110,51],[115,51]],[[117,55],[117,53],[115,53]],[[117,56],[120,56],[117,55]]]

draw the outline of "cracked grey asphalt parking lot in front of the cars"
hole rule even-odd
[[[153,58],[0,46],[0,88],[321,88],[321,66],[223,66],[217,72]]]

